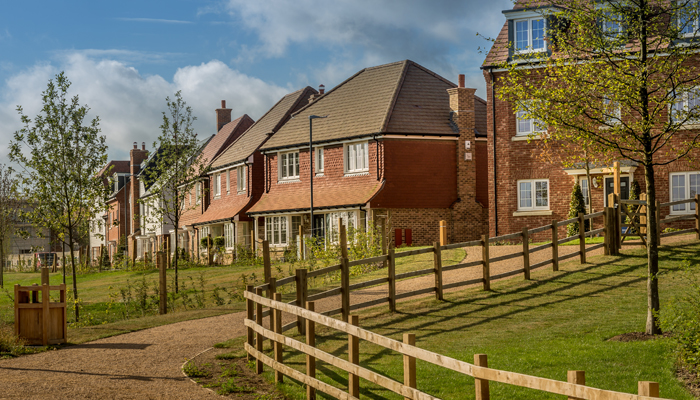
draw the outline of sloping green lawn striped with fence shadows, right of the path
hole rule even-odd
[[[470,363],[475,353],[485,353],[490,367],[562,381],[566,381],[567,370],[584,370],[590,386],[633,394],[638,381],[657,381],[662,397],[690,400],[693,396],[675,376],[670,339],[609,340],[644,331],[646,254],[639,250],[627,254],[591,257],[584,266],[565,263],[559,272],[534,271],[530,281],[497,281],[490,292],[473,288],[447,293],[444,302],[433,298],[401,302],[395,314],[386,307],[367,310],[359,313],[360,325],[399,341],[403,333],[415,333],[417,346]],[[698,268],[700,244],[662,247],[662,312],[669,299],[686,287],[679,271],[686,260],[691,268]],[[317,325],[317,335],[318,347],[347,359],[345,334]],[[240,347],[240,341],[228,345]],[[305,370],[301,354],[286,348],[284,357],[285,364]],[[403,381],[398,353],[360,341],[360,363]],[[347,387],[347,373],[319,361],[317,368],[319,379]],[[270,369],[265,370],[272,379]],[[418,388],[433,396],[474,398],[474,380],[468,376],[420,360],[417,375]],[[290,383],[289,378],[285,382],[280,389],[290,398],[305,397],[298,383]],[[364,380],[360,380],[360,388],[363,398],[401,398]],[[491,383],[491,392],[494,399],[561,398],[498,383]]]

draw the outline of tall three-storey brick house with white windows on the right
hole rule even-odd
[[[534,120],[519,118],[512,104],[494,96],[508,73],[499,69],[499,65],[510,61],[514,53],[527,51],[518,49],[519,41],[528,48],[548,51],[544,32],[550,21],[542,15],[543,11],[520,4],[503,11],[506,21],[481,67],[488,93],[488,180],[493,182],[488,193],[491,236],[550,224],[554,219],[567,219],[571,192],[577,182],[591,212],[601,211],[607,205],[607,194],[613,192],[612,165],[592,165],[592,182],[589,183],[583,164],[564,169],[560,164],[544,162],[537,137],[544,131],[538,130]],[[700,154],[695,157],[697,155]],[[657,159],[662,161],[663,157],[659,154]],[[633,181],[637,181],[644,192],[643,166],[627,160],[619,160],[619,163],[621,197],[629,198]],[[700,189],[699,170],[698,165],[688,160],[656,166],[657,200],[663,203],[694,197]],[[588,204],[589,191],[592,204]],[[692,210],[689,205],[675,206],[673,210],[663,207],[661,218],[690,212],[694,212],[694,206]]]

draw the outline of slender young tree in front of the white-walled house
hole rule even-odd
[[[163,112],[161,134],[153,144],[156,154],[142,175],[144,186],[150,192],[144,201],[150,212],[144,217],[148,223],[168,221],[175,227],[173,266],[177,293],[180,254],[177,229],[184,213],[196,207],[197,201],[190,204],[185,198],[192,192],[200,174],[206,174],[206,171],[202,144],[192,129],[192,123],[197,119],[192,115],[192,108],[182,99],[180,91],[175,93],[174,99],[167,97],[165,101],[168,111]],[[201,191],[196,196],[199,200]]]

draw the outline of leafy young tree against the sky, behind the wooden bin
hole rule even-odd
[[[70,84],[63,72],[50,80],[34,120],[17,107],[24,127],[15,132],[10,143],[10,160],[22,168],[23,197],[29,201],[27,216],[35,226],[56,232],[68,244],[75,320],[79,321],[73,257],[76,232],[87,226],[103,204],[99,200],[106,189],[97,173],[107,162],[107,145],[105,136],[99,134],[98,117],[84,124],[89,108],[79,104],[77,95],[69,98]]]

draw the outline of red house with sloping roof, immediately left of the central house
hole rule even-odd
[[[204,195],[208,207],[192,223],[198,238],[223,236],[227,252],[236,245],[250,246],[252,220],[246,211],[260,198],[264,185],[259,148],[317,93],[307,86],[282,97],[212,161],[207,175],[211,190]]]

